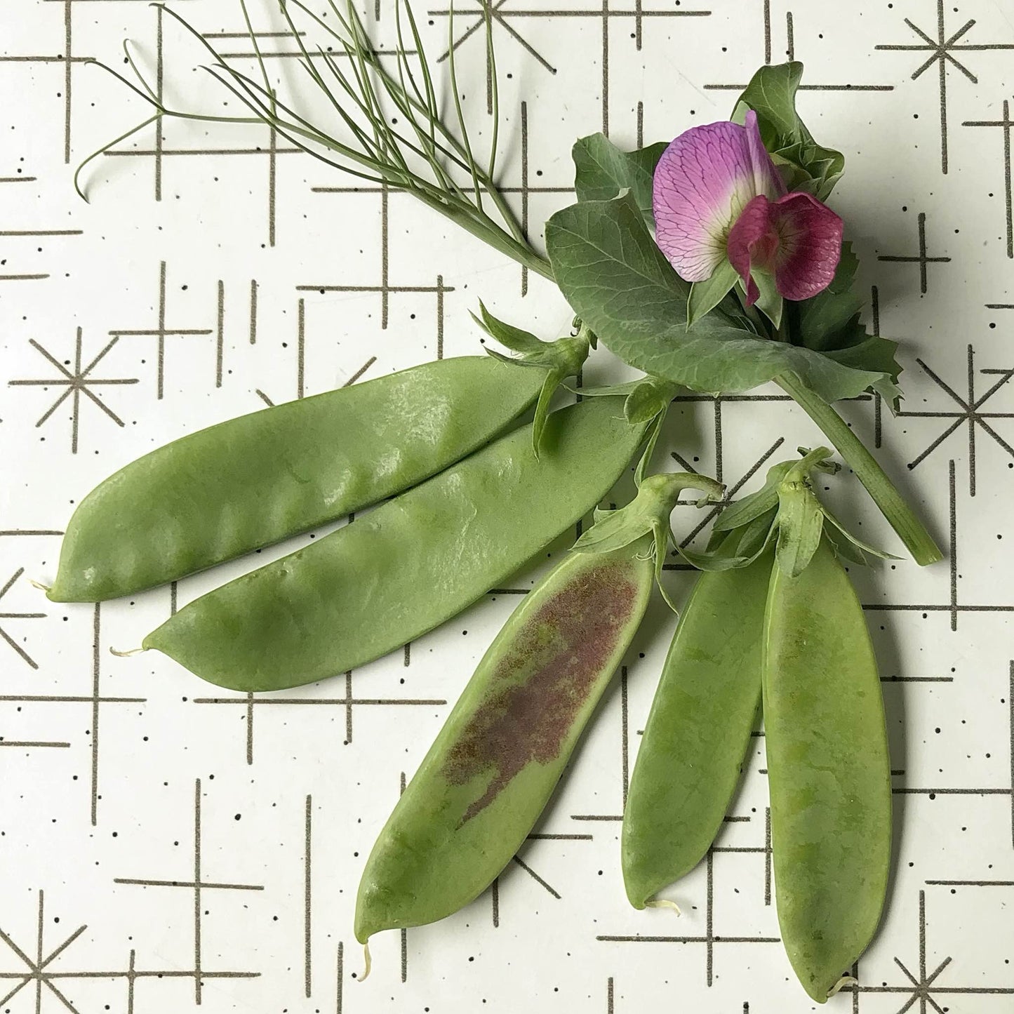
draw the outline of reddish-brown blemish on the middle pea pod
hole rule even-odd
[[[559,755],[634,612],[639,589],[631,570],[627,561],[603,560],[540,605],[517,632],[444,766],[452,785],[493,769],[462,824],[527,765],[550,764]],[[520,681],[518,670],[526,672]]]

